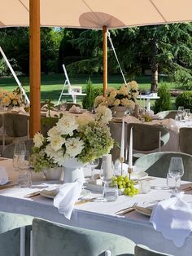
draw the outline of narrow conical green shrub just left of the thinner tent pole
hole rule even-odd
[[[86,89],[85,89],[86,96],[83,99],[83,108],[89,109],[94,107],[94,86],[89,78],[87,81]]]

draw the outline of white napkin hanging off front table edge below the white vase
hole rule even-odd
[[[82,185],[78,180],[74,183],[64,183],[55,196],[55,207],[58,208],[60,214],[64,214],[68,219],[71,218],[74,205],[80,197]]]

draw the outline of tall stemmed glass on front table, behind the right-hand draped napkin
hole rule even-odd
[[[183,161],[181,157],[172,157],[170,161],[170,165],[168,168],[168,174],[170,177],[175,179],[175,190],[174,192],[179,191],[180,179],[184,174]]]

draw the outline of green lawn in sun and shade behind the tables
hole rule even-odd
[[[77,75],[76,77],[70,77],[70,82],[72,85],[80,85],[85,91],[86,82],[88,81],[88,75]],[[94,85],[94,88],[103,88],[103,76],[102,75],[92,75],[90,79]],[[159,77],[159,86],[161,82],[164,82],[166,77]],[[29,92],[28,77],[19,77],[19,80],[26,90],[27,94]],[[134,79],[137,81],[140,90],[150,90],[151,88],[151,76],[140,76]],[[63,73],[55,74],[51,73],[48,75],[41,75],[41,102],[46,99],[50,99],[55,104],[59,99],[59,95],[63,88],[63,83],[65,82],[65,77]],[[108,76],[108,87],[118,88],[124,83],[121,75],[111,75]],[[166,82],[169,89],[176,88],[175,84],[172,82]],[[15,79],[13,77],[0,77],[0,88],[4,90],[14,90],[17,87]],[[65,96],[67,101],[72,101],[71,96]],[[77,97],[78,103],[81,104],[82,97]],[[155,101],[151,101],[151,105]],[[172,103],[174,104],[174,98],[172,98]]]

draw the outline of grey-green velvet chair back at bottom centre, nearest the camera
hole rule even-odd
[[[133,255],[134,245],[124,236],[33,219],[33,255]]]

